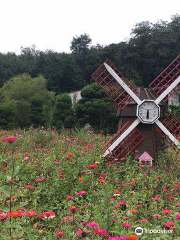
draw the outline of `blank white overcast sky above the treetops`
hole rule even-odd
[[[90,35],[93,45],[127,40],[135,24],[170,21],[180,0],[0,0],[0,52],[70,52],[74,36]]]

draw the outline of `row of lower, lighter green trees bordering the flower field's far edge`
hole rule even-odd
[[[116,131],[116,107],[96,84],[82,89],[82,99],[73,106],[68,93],[55,96],[46,79],[21,74],[0,89],[0,128],[81,128],[89,123],[96,131]]]

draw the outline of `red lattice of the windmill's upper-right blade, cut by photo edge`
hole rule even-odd
[[[159,74],[157,78],[149,85],[151,91],[160,96],[165,89],[171,85],[180,76],[180,55],[169,64],[169,66]],[[166,102],[180,88],[180,84],[164,99]]]

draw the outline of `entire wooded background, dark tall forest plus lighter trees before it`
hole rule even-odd
[[[180,54],[180,15],[169,22],[137,23],[128,40],[108,46],[93,46],[90,36],[83,33],[73,37],[70,49],[71,53],[43,52],[31,46],[22,48],[19,55],[0,53],[1,128],[69,128],[89,122],[97,130],[104,129],[107,122],[115,121],[116,110],[95,87],[91,75],[108,58],[129,80],[148,87]],[[66,93],[81,89],[83,100],[72,108]],[[94,120],[95,112],[99,115]],[[107,115],[111,119],[102,117]]]

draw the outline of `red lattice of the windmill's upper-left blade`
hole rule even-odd
[[[93,74],[92,78],[98,85],[104,90],[104,92],[113,100],[113,102],[123,109],[131,101],[128,93],[121,87],[120,84],[114,79],[114,77],[107,71],[105,64],[109,65],[115,73],[120,76],[127,84],[127,86],[137,94],[136,89],[132,84],[124,77],[124,75],[114,66],[114,64],[107,59]]]

